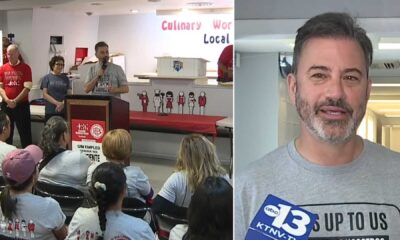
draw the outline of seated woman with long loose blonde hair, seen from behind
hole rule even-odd
[[[182,139],[174,172],[154,199],[154,213],[186,217],[193,192],[208,176],[229,179],[218,159],[215,145],[206,137],[192,134]]]

